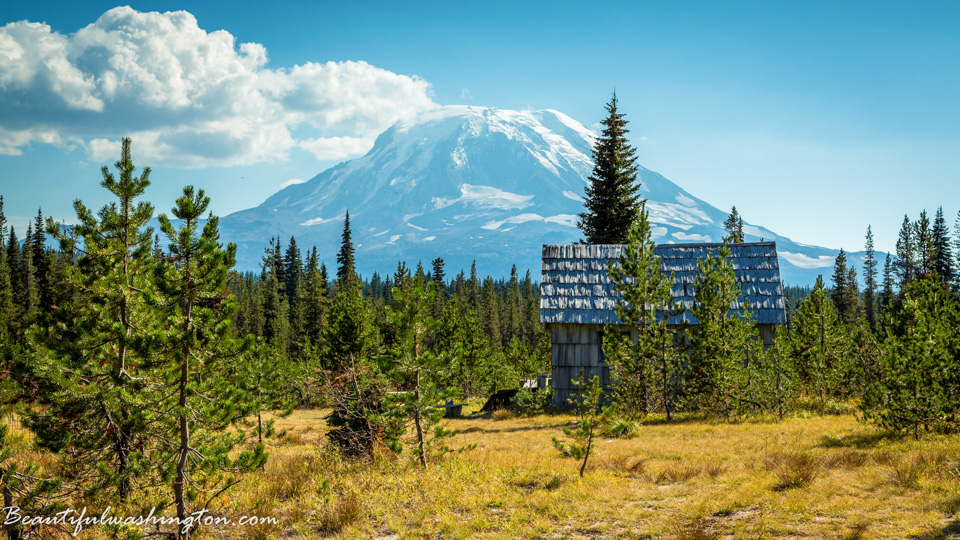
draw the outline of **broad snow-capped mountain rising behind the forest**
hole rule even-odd
[[[383,132],[366,155],[221,219],[238,267],[258,267],[271,237],[316,245],[333,266],[347,210],[358,270],[392,273],[443,257],[448,275],[476,260],[481,275],[540,273],[542,244],[574,243],[593,167],[593,132],[554,110],[447,106]],[[718,242],[727,213],[645,168],[641,189],[658,243]],[[776,240],[790,284],[830,274],[835,250],[798,244],[747,224],[747,241]],[[859,265],[859,257],[852,262]]]

